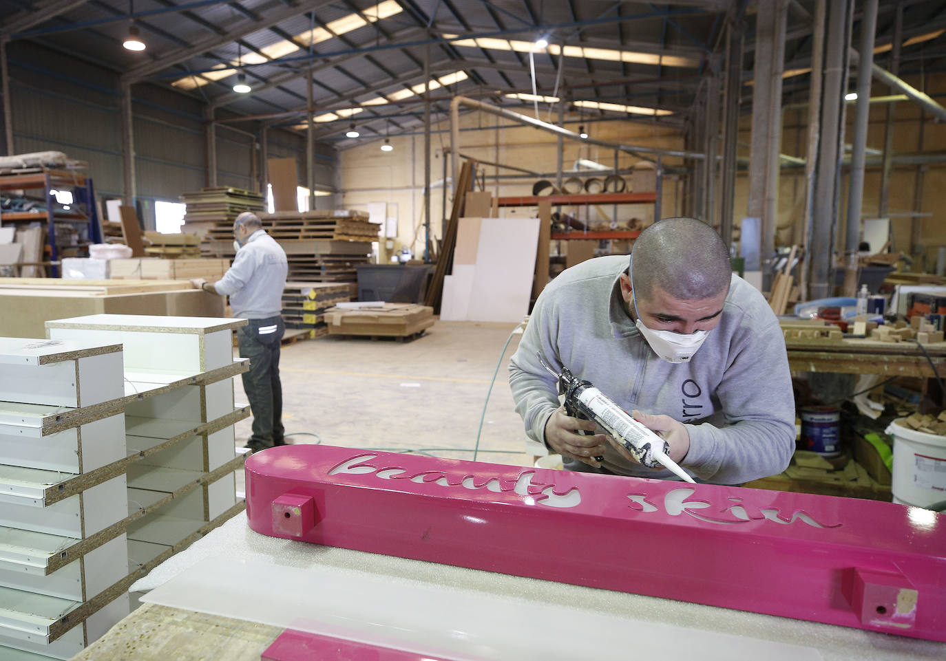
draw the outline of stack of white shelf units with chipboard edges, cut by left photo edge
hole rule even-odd
[[[129,612],[122,381],[119,344],[0,338],[0,658],[69,658]]]

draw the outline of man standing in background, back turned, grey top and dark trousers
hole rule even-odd
[[[230,297],[234,317],[250,320],[236,329],[239,355],[250,358],[242,374],[243,390],[253,411],[251,452],[285,445],[282,423],[283,390],[279,381],[279,345],[286,326],[280,312],[286,288],[286,252],[263,231],[255,214],[245,211],[234,220],[233,266],[216,283],[195,278],[191,284]]]

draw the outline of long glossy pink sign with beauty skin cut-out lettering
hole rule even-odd
[[[254,454],[246,492],[276,537],[946,641],[918,508],[325,445]]]

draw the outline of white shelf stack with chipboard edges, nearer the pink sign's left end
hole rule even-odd
[[[245,320],[90,315],[46,322],[50,339],[120,342],[125,353],[128,554],[141,574],[245,507],[236,498],[233,329]]]

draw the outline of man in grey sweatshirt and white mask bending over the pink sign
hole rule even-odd
[[[778,319],[732,273],[720,236],[694,218],[654,223],[630,259],[598,257],[563,271],[536,301],[509,366],[527,434],[561,454],[567,469],[675,479],[627,459],[594,423],[569,417],[536,354],[632,411],[698,480],[774,475],[795,450]]]

